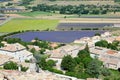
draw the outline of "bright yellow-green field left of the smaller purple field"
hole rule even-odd
[[[22,30],[54,30],[58,20],[40,20],[40,19],[13,19],[0,26],[0,32],[14,32]]]

